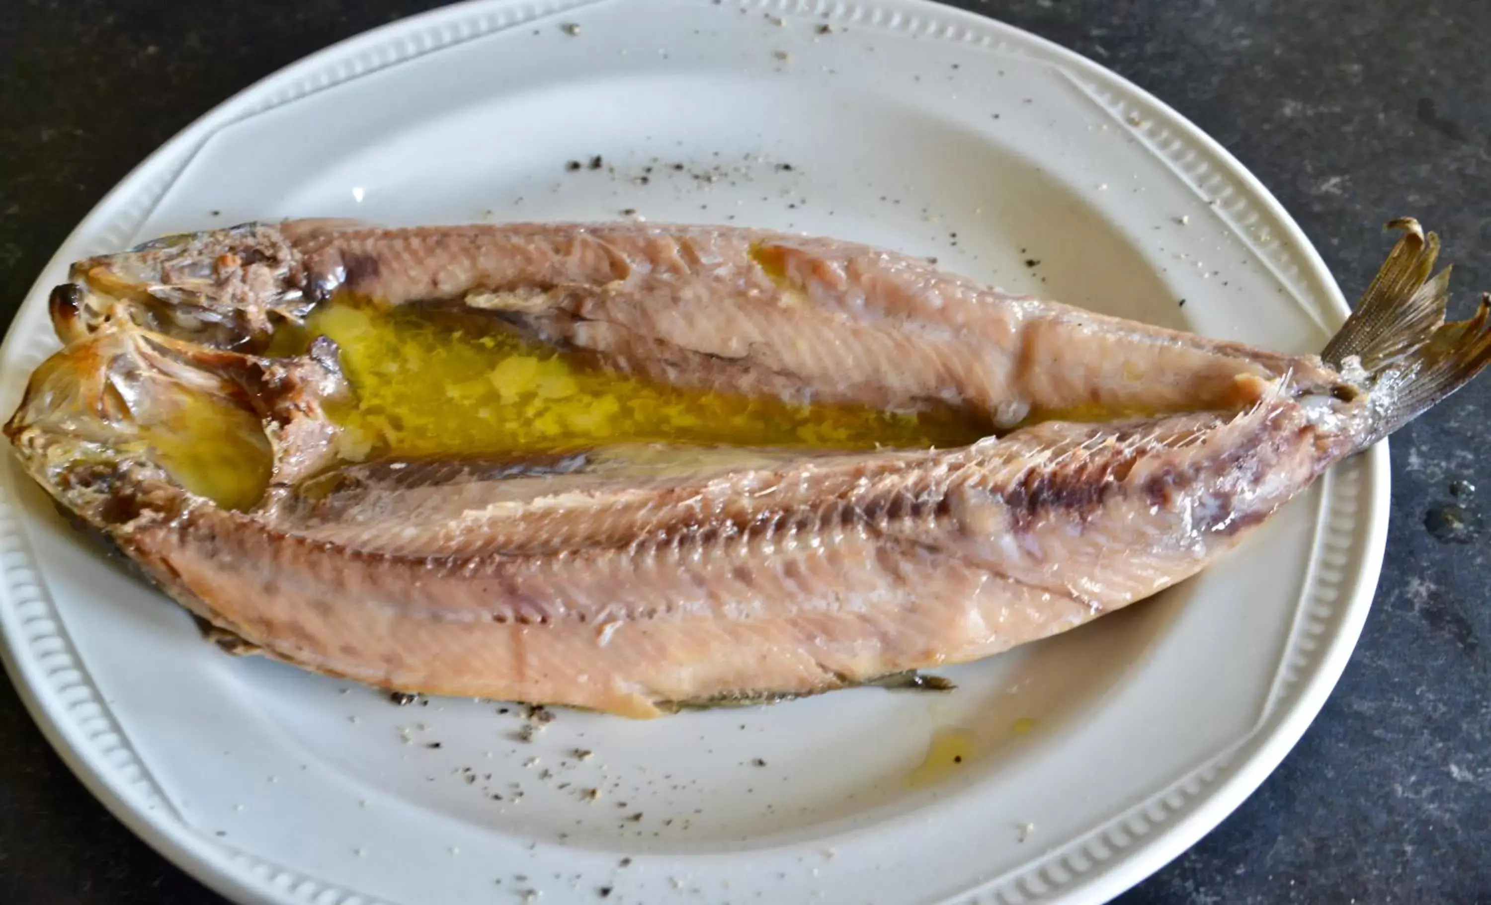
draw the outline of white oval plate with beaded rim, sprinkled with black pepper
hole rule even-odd
[[[488,0],[321,52],[152,155],[37,282],[0,403],[55,347],[45,294],[85,255],[258,218],[625,209],[878,243],[1288,352],[1346,312],[1220,146],[1014,28],[917,0]],[[948,669],[948,695],[559,713],[525,742],[519,708],[401,708],[224,656],[13,461],[0,471],[6,665],[52,742],[209,886],[316,905],[1109,898],[1215,826],[1315,716],[1388,502],[1379,446],[1199,578]],[[948,731],[971,754],[911,783]]]

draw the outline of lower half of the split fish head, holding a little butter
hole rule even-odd
[[[349,400],[330,340],[256,358],[118,324],[45,361],[4,434],[75,511],[100,505],[124,471],[249,508],[271,480],[325,465],[338,431],[328,409]]]

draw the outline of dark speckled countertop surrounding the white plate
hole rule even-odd
[[[963,0],[1153,91],[1242,160],[1348,295],[1370,230],[1445,237],[1460,306],[1491,289],[1491,3]],[[0,306],[9,316],[136,163],[252,81],[417,0],[0,6]],[[1491,380],[1393,438],[1393,522],[1361,644],[1303,741],[1123,902],[1491,902]],[[1458,529],[1446,529],[1460,526]],[[1443,540],[1436,540],[1443,538]],[[0,902],[219,902],[69,774],[0,681]]]

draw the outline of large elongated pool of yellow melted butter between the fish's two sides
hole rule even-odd
[[[380,310],[338,300],[309,335],[341,347],[356,406],[334,413],[343,455],[535,453],[614,443],[917,449],[987,434],[966,414],[795,406],[663,386],[593,367],[485,316]],[[303,344],[289,337],[279,352]]]

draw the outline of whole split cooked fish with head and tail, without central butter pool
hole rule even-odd
[[[1291,356],[825,239],[253,224],[76,264],[51,300],[66,346],[6,434],[176,601],[319,672],[635,717],[814,693],[1150,596],[1469,382],[1491,309],[1445,324],[1437,240],[1396,225],[1342,331]],[[349,461],[335,343],[276,352],[341,294],[485,312],[671,386],[992,428],[956,449]],[[236,504],[179,477],[230,435],[265,450]]]

